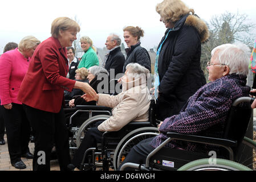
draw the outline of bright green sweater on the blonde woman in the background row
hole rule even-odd
[[[97,58],[97,55],[90,47],[82,56],[80,63],[78,65],[78,68],[90,68],[92,66],[99,65],[99,59]]]

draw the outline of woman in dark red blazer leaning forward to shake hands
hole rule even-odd
[[[33,170],[50,171],[51,148],[55,144],[60,170],[70,163],[64,90],[82,89],[96,94],[88,83],[68,79],[67,49],[80,31],[78,23],[66,17],[52,22],[51,37],[36,48],[21,84],[18,100],[23,103],[35,135]],[[55,142],[55,143],[54,143]]]

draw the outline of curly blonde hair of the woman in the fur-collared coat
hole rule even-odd
[[[194,14],[181,0],[164,0],[156,5],[156,12],[160,14],[165,22],[177,22],[182,15]]]

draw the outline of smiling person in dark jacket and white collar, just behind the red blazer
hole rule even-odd
[[[75,57],[75,49],[73,47],[67,48],[67,58],[68,58],[68,75],[67,77],[71,80],[75,80],[75,71],[78,69],[79,60]]]

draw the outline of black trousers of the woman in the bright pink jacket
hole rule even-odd
[[[15,163],[21,159],[22,154],[29,152],[30,123],[22,105],[12,105],[12,109],[5,109],[2,106],[2,114],[11,163]]]

